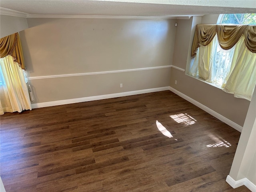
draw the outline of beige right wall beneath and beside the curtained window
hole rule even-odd
[[[207,17],[210,18],[210,16]],[[216,18],[216,16],[214,18]],[[201,22],[198,18],[196,18],[196,20]],[[204,17],[202,20],[206,22]],[[213,22],[213,20],[211,19],[210,22]],[[193,18],[190,20],[178,20],[174,56],[172,61],[174,66],[186,69],[187,62],[190,63],[191,53],[188,50],[190,50],[191,47],[191,31],[194,33],[193,30],[195,24],[196,23],[193,22]],[[177,80],[177,84],[174,84],[175,80]],[[185,72],[175,68],[171,69],[170,86],[203,104],[204,106],[221,114],[222,116],[228,118],[229,120],[235,122],[236,124],[243,126],[250,104],[249,101],[245,99],[234,98],[232,94],[227,94],[219,88],[213,87],[209,84],[187,76]]]

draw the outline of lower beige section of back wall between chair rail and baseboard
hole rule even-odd
[[[170,69],[30,80],[34,103],[100,96],[169,86]],[[123,87],[120,88],[120,83]],[[38,102],[37,102],[38,101]]]

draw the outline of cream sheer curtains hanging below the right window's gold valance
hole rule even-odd
[[[210,44],[198,48],[188,74],[199,76],[236,98],[251,100],[256,84],[256,53],[246,48],[244,35],[231,49],[223,50],[216,34]]]

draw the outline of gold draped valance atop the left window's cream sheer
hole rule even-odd
[[[22,47],[20,44],[20,36],[18,33],[0,39],[0,58],[11,55],[14,61],[25,69]]]

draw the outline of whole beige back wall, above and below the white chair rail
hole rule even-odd
[[[169,86],[175,21],[28,18],[20,37],[34,103]]]

